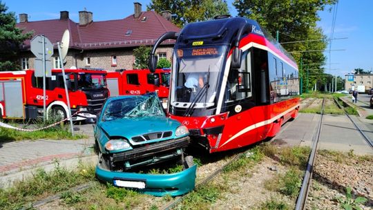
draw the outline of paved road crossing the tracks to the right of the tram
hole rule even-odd
[[[274,142],[289,146],[311,146],[321,115],[300,113],[296,120],[287,122]],[[352,116],[354,122],[373,140],[373,120]],[[373,155],[373,149],[365,142],[355,126],[345,115],[324,115],[319,149],[348,152],[359,155]]]

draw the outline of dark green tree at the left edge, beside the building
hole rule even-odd
[[[0,71],[20,68],[19,46],[32,35],[32,32],[22,34],[16,27],[15,13],[7,10],[0,1]]]

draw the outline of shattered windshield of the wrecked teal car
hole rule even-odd
[[[103,121],[117,120],[128,117],[164,116],[160,100],[155,93],[134,95],[108,102]]]

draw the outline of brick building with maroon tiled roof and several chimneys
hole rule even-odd
[[[66,68],[132,69],[135,57],[133,49],[138,46],[153,46],[157,38],[165,32],[180,31],[171,23],[171,13],[154,11],[142,12],[142,5],[134,3],[134,14],[124,19],[93,21],[93,12],[80,11],[79,23],[69,18],[68,11],[61,11],[59,19],[28,21],[27,14],[19,15],[18,28],[23,32],[34,31],[34,36],[45,35],[54,44],[53,68],[61,68],[57,41],[64,30],[70,30],[70,44],[66,56]],[[174,41],[165,41],[157,49],[158,57],[171,61]],[[35,56],[30,51],[30,40],[21,46],[21,66],[34,68]]]

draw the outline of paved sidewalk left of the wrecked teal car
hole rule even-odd
[[[8,187],[15,180],[32,175],[32,171],[43,167],[46,171],[55,168],[55,162],[68,169],[75,168],[79,160],[97,161],[93,152],[95,143],[91,124],[79,126],[87,135],[84,140],[23,140],[2,142],[0,140],[0,187]]]

